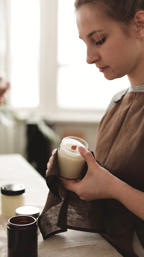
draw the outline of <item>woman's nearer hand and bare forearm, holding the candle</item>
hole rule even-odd
[[[79,147],[80,154],[88,164],[83,180],[61,178],[65,188],[75,192],[82,200],[113,198],[144,221],[144,193],[126,184],[102,168],[91,152]]]

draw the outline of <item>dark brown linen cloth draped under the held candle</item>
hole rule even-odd
[[[85,164],[82,178],[87,169],[88,166]],[[57,151],[46,175],[46,183],[50,192],[38,220],[43,239],[67,231],[68,228],[86,232],[105,232],[104,200],[84,201],[62,186]]]

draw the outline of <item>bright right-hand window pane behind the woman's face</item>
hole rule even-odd
[[[74,0],[58,3],[58,107],[105,109],[113,95],[130,82],[127,76],[109,81],[95,64],[86,63],[86,45],[78,36]]]

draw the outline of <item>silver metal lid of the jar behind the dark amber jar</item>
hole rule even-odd
[[[16,215],[27,215],[38,218],[40,209],[34,206],[21,206],[16,209]]]

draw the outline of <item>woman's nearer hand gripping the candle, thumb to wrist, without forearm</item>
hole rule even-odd
[[[90,151],[79,147],[79,152],[88,164],[88,171],[81,181],[61,178],[64,187],[74,191],[82,200],[86,201],[113,198],[113,188],[117,178],[101,167]]]

